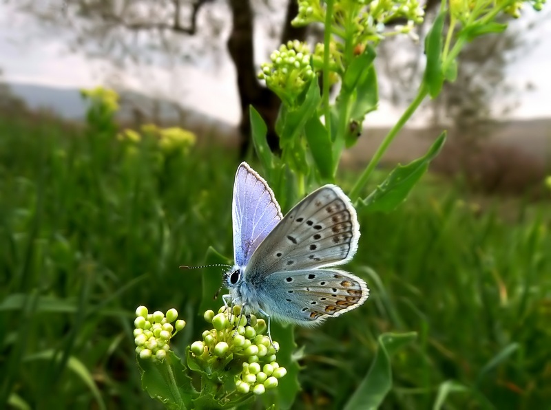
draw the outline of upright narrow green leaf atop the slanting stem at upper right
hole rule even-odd
[[[446,12],[441,10],[430,28],[425,39],[426,68],[424,83],[428,87],[428,94],[435,98],[444,84],[442,73],[442,30]]]

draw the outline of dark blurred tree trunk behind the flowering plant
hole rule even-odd
[[[229,36],[227,47],[229,55],[236,66],[237,86],[241,105],[240,155],[245,157],[251,144],[251,123],[249,106],[253,105],[260,113],[268,127],[267,140],[270,149],[280,151],[279,138],[275,133],[275,120],[278,118],[280,100],[267,87],[260,85],[257,79],[254,64],[253,19],[254,14],[249,0],[230,0],[229,5],[233,13],[233,28]],[[298,14],[298,2],[289,0],[287,16],[284,21],[282,43],[289,40],[303,40],[306,28],[294,28],[291,20]]]

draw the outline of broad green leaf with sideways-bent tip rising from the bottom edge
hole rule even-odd
[[[379,349],[375,360],[366,377],[357,387],[345,410],[377,409],[392,387],[391,357],[398,349],[411,343],[417,334],[415,332],[394,334],[385,333],[379,336]]]

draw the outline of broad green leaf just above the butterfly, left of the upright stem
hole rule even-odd
[[[306,141],[310,147],[312,158],[320,171],[322,178],[333,179],[333,146],[329,140],[329,134],[323,126],[320,118],[313,116],[304,126]]]

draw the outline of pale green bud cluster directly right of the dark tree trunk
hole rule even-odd
[[[294,105],[296,98],[315,77],[310,64],[311,52],[306,43],[298,40],[282,44],[271,56],[271,63],[262,63],[258,78],[286,102]]]

